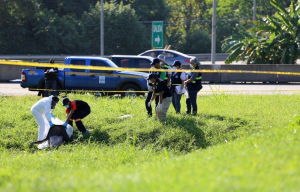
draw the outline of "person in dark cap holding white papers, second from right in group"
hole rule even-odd
[[[174,66],[174,69],[181,69],[181,62],[179,60],[175,60],[172,66]],[[176,110],[176,113],[180,113],[180,100],[182,96],[184,81],[185,72],[174,71],[171,73],[170,91],[172,93],[172,104],[174,106],[174,109]]]

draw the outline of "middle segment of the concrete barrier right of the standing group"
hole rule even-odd
[[[276,64],[224,64],[221,70],[277,71]],[[276,82],[277,74],[221,73],[221,82]]]

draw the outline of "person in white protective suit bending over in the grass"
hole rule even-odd
[[[31,114],[38,125],[37,140],[42,140],[47,136],[48,130],[45,130],[46,126],[53,126],[51,117],[54,118],[54,115],[52,114],[51,109],[55,108],[58,101],[59,98],[57,96],[51,95],[41,98],[31,107]]]

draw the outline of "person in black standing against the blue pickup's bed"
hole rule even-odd
[[[53,59],[49,60],[49,63],[54,63]],[[44,97],[49,96],[49,89],[54,90],[52,95],[57,95],[57,85],[56,85],[56,78],[58,75],[58,68],[57,67],[45,67],[44,68],[44,78],[45,78],[45,94]]]

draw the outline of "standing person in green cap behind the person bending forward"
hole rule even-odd
[[[151,69],[163,69],[160,64],[159,64],[160,60],[159,58],[153,58],[153,61],[150,63],[152,66],[151,66]],[[166,75],[166,72],[165,71],[150,71],[150,73],[155,73],[156,76],[158,76],[160,79],[164,79],[165,75]],[[153,93],[153,83],[147,79],[147,86],[148,86],[148,93],[147,93],[147,97],[145,99],[145,106],[146,106],[146,110],[147,110],[147,114],[148,116],[152,116],[152,107],[151,105],[148,105],[148,102],[150,101],[151,99],[151,96],[152,96],[152,93]],[[158,97],[155,98],[155,108],[158,104]]]

